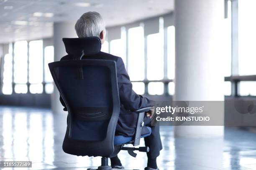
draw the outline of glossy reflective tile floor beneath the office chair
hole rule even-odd
[[[30,160],[33,170],[82,170],[100,165],[100,158],[62,151],[66,117],[46,109],[0,107],[0,161]],[[174,138],[173,127],[166,126],[161,127],[161,139],[160,170],[256,170],[255,133],[226,128],[224,141],[184,139]],[[143,170],[146,166],[145,153],[133,158],[121,151],[119,158],[127,169]]]

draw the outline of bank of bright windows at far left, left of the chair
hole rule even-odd
[[[43,49],[43,40],[10,43],[4,56],[3,94],[52,93],[54,86],[48,63],[53,61],[54,47]]]

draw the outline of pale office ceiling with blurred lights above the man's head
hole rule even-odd
[[[0,43],[51,37],[53,23],[99,12],[106,26],[169,13],[174,0],[0,0]]]

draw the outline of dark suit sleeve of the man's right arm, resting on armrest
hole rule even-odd
[[[124,105],[125,109],[138,110],[143,107],[154,106],[155,102],[153,100],[149,100],[147,97],[143,97],[142,95],[137,95],[136,92],[133,91],[133,85],[125,70],[122,58],[118,57],[118,60],[116,60],[116,67],[120,102]]]

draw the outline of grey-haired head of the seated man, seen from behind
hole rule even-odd
[[[100,37],[101,43],[105,41],[105,23],[97,12],[84,13],[75,25],[78,37]]]

